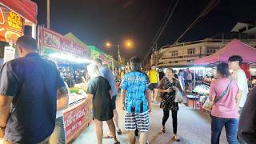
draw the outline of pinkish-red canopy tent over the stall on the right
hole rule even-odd
[[[217,62],[227,62],[228,58],[232,55],[240,55],[243,62],[253,63],[256,62],[256,49],[240,42],[238,39],[232,40],[222,50],[218,50],[215,54],[199,58],[194,61],[195,65],[209,65]]]

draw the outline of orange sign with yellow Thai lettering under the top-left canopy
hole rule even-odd
[[[25,19],[0,5],[0,41],[16,43],[23,35]]]

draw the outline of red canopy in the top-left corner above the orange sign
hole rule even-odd
[[[38,6],[36,3],[30,0],[0,0],[0,4],[20,14],[26,20],[37,23]]]

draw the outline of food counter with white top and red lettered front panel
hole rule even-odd
[[[89,126],[91,102],[90,98],[85,98],[81,94],[70,94],[70,106],[63,112],[66,143],[74,141]]]

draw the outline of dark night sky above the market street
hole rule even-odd
[[[46,0],[38,4],[38,24],[46,25]],[[172,0],[50,0],[51,29],[60,34],[72,32],[88,45],[109,54],[117,50],[106,48],[106,41],[123,44],[130,38],[134,48],[122,48],[126,58],[134,55],[144,58],[150,49],[158,27]],[[180,0],[158,46],[172,44],[194,21],[210,0]],[[174,4],[176,0],[172,2]],[[182,42],[200,40],[214,34],[229,32],[236,22],[256,20],[255,0],[222,0],[194,26]]]

